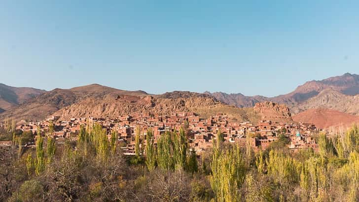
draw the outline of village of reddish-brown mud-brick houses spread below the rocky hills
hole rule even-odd
[[[135,113],[120,116],[115,120],[93,117],[60,120],[59,117],[51,117],[45,121],[19,124],[16,129],[31,130],[33,134],[36,134],[39,126],[43,134],[52,136],[58,144],[63,144],[66,138],[77,141],[80,125],[88,127],[95,123],[102,125],[108,133],[108,138],[110,138],[111,131],[117,131],[117,144],[121,146],[125,155],[135,154],[136,127],[140,127],[142,131],[140,134],[142,147],[146,144],[146,131],[149,128],[153,130],[155,144],[166,131],[173,132],[184,128],[189,147],[197,155],[201,155],[203,151],[212,147],[218,131],[223,134],[225,142],[239,143],[245,146],[249,141],[254,151],[267,149],[280,135],[284,135],[290,142],[287,145],[288,148],[293,152],[303,148],[313,148],[317,151],[318,145],[312,136],[320,132],[314,124],[310,123],[262,120],[258,124],[254,124],[252,122],[231,122],[226,114],[217,114],[208,119],[201,119],[195,113],[172,113],[170,116]],[[49,134],[50,124],[54,128],[52,134]],[[26,147],[35,147],[35,141],[24,144]]]

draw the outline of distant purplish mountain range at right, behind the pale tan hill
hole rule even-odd
[[[276,97],[264,97],[259,95],[245,96],[241,93],[210,93],[208,91],[206,91],[205,93],[215,97],[223,103],[234,105],[237,107],[253,107],[255,103],[258,102],[272,101],[276,103],[286,104],[289,108],[292,108],[298,106],[299,104],[307,101],[310,98],[317,96],[325,89],[332,89],[344,95],[359,94],[359,75],[346,73],[342,76],[331,77],[321,81],[308,81],[303,85],[298,86],[294,91]]]

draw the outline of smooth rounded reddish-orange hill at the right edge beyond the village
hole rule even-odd
[[[346,114],[336,110],[324,108],[309,109],[293,116],[296,122],[314,123],[319,128],[329,128],[337,126],[351,126],[359,123],[359,116]]]

